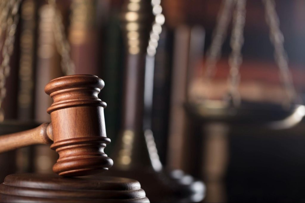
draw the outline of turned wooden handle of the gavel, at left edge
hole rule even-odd
[[[35,145],[52,144],[52,124],[43,123],[37,128],[0,136],[0,153]]]

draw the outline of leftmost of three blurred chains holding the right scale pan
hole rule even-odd
[[[206,72],[204,75],[204,82],[209,83],[210,79],[216,72],[216,63],[221,57],[221,47],[224,39],[227,36],[228,25],[231,19],[231,9],[233,7],[233,0],[223,0],[222,10],[217,17],[217,25],[213,30],[212,43],[207,51],[207,59],[205,63]]]

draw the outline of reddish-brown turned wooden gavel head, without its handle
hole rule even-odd
[[[53,99],[51,114],[54,143],[59,154],[53,171],[60,176],[85,176],[108,170],[112,159],[104,153],[106,137],[104,108],[98,98],[104,87],[94,75],[70,75],[52,80],[45,92]]]

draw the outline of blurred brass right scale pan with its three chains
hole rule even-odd
[[[221,47],[226,37],[228,24],[231,19],[231,9],[235,6],[233,16],[233,28],[230,45],[232,52],[229,56],[230,75],[228,78],[228,91],[223,100],[209,99],[209,93],[205,97],[198,95],[196,100],[187,104],[189,112],[209,121],[221,121],[225,123],[257,123],[268,124],[273,128],[290,128],[298,124],[305,115],[305,107],[296,94],[292,82],[292,76],[288,67],[287,54],[284,49],[284,37],[279,29],[279,20],[275,10],[275,2],[263,0],[266,21],[270,28],[270,39],[274,45],[274,58],[280,70],[280,76],[286,91],[286,100],[281,104],[258,103],[242,100],[239,94],[240,73],[242,63],[241,49],[244,41],[243,29],[246,19],[245,0],[224,0],[223,9],[219,13],[217,26],[214,30],[212,43],[207,51],[206,72],[203,75],[203,83],[210,91],[210,81],[216,72],[216,63],[221,56]]]

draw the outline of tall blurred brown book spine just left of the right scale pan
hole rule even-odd
[[[184,103],[187,100],[188,50],[191,29],[186,25],[178,26],[174,31],[174,54],[171,78],[170,121],[168,143],[168,167],[184,169],[184,141],[186,115]]]

